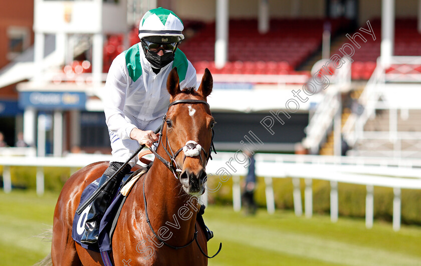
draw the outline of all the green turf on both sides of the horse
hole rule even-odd
[[[32,265],[50,252],[42,237],[51,228],[58,194],[32,191],[0,192],[0,264]],[[402,226],[394,232],[388,222],[314,215],[296,217],[292,211],[256,216],[234,212],[232,206],[209,206],[204,220],[215,232],[209,254],[223,242],[209,265],[421,265],[421,227]]]

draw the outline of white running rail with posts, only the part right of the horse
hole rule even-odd
[[[224,153],[216,156],[207,166],[208,173],[216,173],[225,168],[233,174],[233,206],[241,208],[240,176],[246,174],[243,164],[236,163],[234,154]],[[241,160],[241,159],[239,159]],[[228,166],[228,165],[231,165]],[[233,171],[234,168],[236,171]],[[302,215],[300,178],[305,180],[305,215],[311,217],[312,180],[330,181],[330,214],[331,220],[338,218],[337,183],[361,184],[367,189],[366,194],[366,227],[373,225],[373,186],[393,188],[393,229],[400,228],[400,191],[404,189],[421,189],[421,159],[391,159],[374,157],[341,157],[320,155],[286,155],[257,154],[256,174],[264,177],[266,185],[266,203],[269,213],[275,210],[272,178],[292,177],[294,186],[293,200],[296,215]],[[221,180],[226,180],[226,177]]]

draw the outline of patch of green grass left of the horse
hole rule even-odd
[[[1,265],[32,265],[50,253],[51,241],[41,235],[53,226],[57,198],[58,193],[0,192]]]

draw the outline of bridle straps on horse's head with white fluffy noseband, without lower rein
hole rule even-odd
[[[200,104],[205,104],[207,107],[209,107],[209,104],[205,101],[202,100],[193,100],[193,99],[185,99],[185,100],[176,100],[173,101],[172,103],[170,103],[168,105],[168,109],[169,107],[176,105],[176,104],[196,104],[196,103],[200,103]],[[214,146],[214,136],[215,136],[215,131],[214,129],[212,129],[212,138],[210,139],[210,147],[209,150],[206,152],[203,147],[199,144],[197,144],[194,141],[187,141],[187,143],[179,148],[175,153],[172,151],[171,149],[171,145],[169,144],[168,141],[168,134],[165,134],[165,142],[166,142],[166,146],[168,147],[168,149],[163,145],[162,143],[162,132],[164,130],[164,123],[166,120],[166,115],[163,117],[162,119],[162,125],[161,125],[161,130],[160,130],[160,134],[159,134],[159,139],[158,139],[158,147],[160,144],[162,144],[162,148],[164,149],[165,153],[169,156],[170,161],[165,160],[164,158],[162,158],[162,156],[160,156],[159,154],[157,154],[153,149],[150,148],[150,151],[155,155],[156,158],[158,158],[175,176],[175,178],[179,178],[179,173],[182,172],[182,170],[178,167],[177,162],[175,161],[175,158],[177,157],[177,155],[183,151],[184,152],[184,159],[183,162],[185,161],[186,157],[194,157],[194,156],[200,156],[200,161],[202,163],[203,168],[206,167],[207,161],[209,159],[212,160],[212,156],[210,155],[210,153],[212,152],[212,150],[214,150],[215,153],[217,153],[217,151],[215,150],[215,146]],[[168,129],[167,129],[168,131]],[[198,151],[198,152],[197,152]],[[206,158],[206,162],[203,161],[203,158],[201,156],[201,152],[203,151],[204,153],[204,157]],[[197,154],[198,153],[198,154]],[[204,165],[203,165],[204,164]]]

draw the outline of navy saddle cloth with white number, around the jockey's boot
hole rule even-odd
[[[108,207],[107,211],[101,219],[97,243],[87,245],[80,242],[82,235],[85,232],[85,221],[87,219],[88,211],[91,208],[91,205],[86,207],[80,215],[75,213],[75,216],[73,218],[72,237],[82,247],[96,252],[108,251],[112,249],[111,238],[113,232],[110,230],[114,230],[114,227],[112,226],[114,217],[119,212],[120,206],[122,203],[124,203],[126,198],[121,193],[119,193],[119,191],[121,189],[122,184],[130,177],[131,174],[132,173],[129,173],[123,178],[123,181],[121,182],[120,187],[118,189],[117,196],[113,199],[111,205]],[[85,190],[83,190],[79,206],[95,192],[95,190],[98,187],[100,178],[90,183],[85,188]]]

